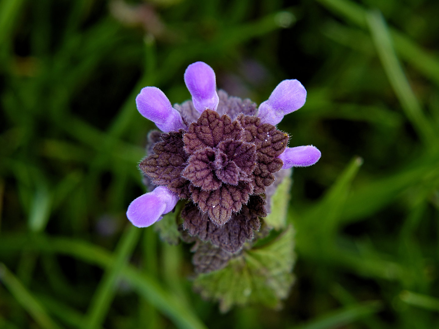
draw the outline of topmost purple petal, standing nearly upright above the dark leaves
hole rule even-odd
[[[216,93],[215,72],[204,62],[189,65],[184,72],[184,83],[192,95],[192,102],[198,112],[206,108],[216,111],[219,97]]]

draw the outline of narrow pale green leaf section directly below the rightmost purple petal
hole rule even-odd
[[[287,224],[287,211],[290,202],[291,172],[277,186],[276,193],[270,199],[271,213],[264,218],[264,222],[273,229],[283,229]]]

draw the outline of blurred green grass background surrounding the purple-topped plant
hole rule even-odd
[[[0,0],[0,328],[439,327],[439,2]],[[295,170],[296,282],[226,314],[188,246],[135,229],[154,128],[143,86],[190,98],[205,61],[231,95],[299,79],[279,125]]]

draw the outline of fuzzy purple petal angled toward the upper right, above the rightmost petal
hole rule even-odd
[[[306,89],[294,80],[284,80],[274,88],[268,100],[259,105],[262,122],[277,125],[284,115],[298,110],[305,104]]]

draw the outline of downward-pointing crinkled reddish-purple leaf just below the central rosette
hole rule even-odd
[[[230,219],[232,212],[241,210],[247,204],[252,193],[251,184],[239,182],[237,186],[223,184],[218,190],[203,191],[191,186],[192,200],[207,212],[209,218],[218,226],[223,226]]]

